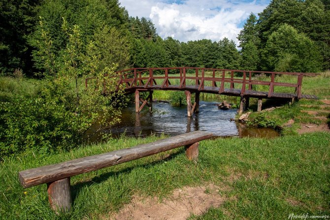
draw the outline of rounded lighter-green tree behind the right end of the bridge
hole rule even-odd
[[[315,42],[287,24],[269,36],[262,55],[266,70],[319,72],[322,69],[322,57]]]

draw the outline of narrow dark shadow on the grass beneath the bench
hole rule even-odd
[[[165,161],[169,161],[169,160],[177,157],[178,155],[180,155],[184,152],[185,152],[185,149],[183,148],[183,149],[180,149],[178,152],[175,152],[175,153],[173,153],[173,154],[171,154],[171,155],[169,155],[169,156],[167,156],[163,159],[160,159],[160,160],[148,163],[148,164],[141,164],[141,165],[137,165],[137,166],[127,167],[127,168],[122,169],[122,170],[117,171],[117,172],[104,173],[104,174],[101,174],[97,177],[94,177],[91,181],[74,184],[74,185],[71,186],[72,205],[74,205],[75,199],[77,198],[78,194],[83,190],[83,188],[85,186],[90,186],[90,185],[95,184],[95,183],[102,183],[102,182],[108,180],[111,177],[117,176],[118,174],[128,174],[135,168],[142,168],[142,167],[155,166],[157,164],[161,164]]]

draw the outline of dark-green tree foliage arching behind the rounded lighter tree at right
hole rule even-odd
[[[257,28],[261,38],[262,50],[273,32],[283,25],[290,25],[299,33],[303,33],[319,46],[323,57],[323,70],[330,68],[330,11],[320,0],[272,0],[259,14]],[[291,42],[289,40],[289,42]],[[291,48],[292,49],[292,48]],[[287,51],[295,54],[295,51]],[[307,56],[307,59],[319,59]],[[299,57],[301,59],[301,57]]]

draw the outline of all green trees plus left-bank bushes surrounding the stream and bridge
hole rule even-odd
[[[228,38],[163,39],[150,20],[131,17],[118,0],[2,0],[0,157],[77,147],[92,124],[118,122],[127,97],[103,96],[98,84],[85,89],[86,77],[100,82],[132,67],[325,71],[329,5],[272,0],[247,18],[236,45]]]

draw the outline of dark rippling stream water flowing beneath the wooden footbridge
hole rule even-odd
[[[102,132],[118,137],[144,137],[150,134],[178,135],[197,130],[209,131],[215,137],[277,137],[278,132],[269,128],[246,128],[243,124],[231,121],[236,111],[219,110],[215,102],[199,103],[199,113],[187,116],[186,107],[173,107],[168,103],[153,103],[153,110],[148,107],[140,113],[135,113],[134,105],[122,110],[121,122]],[[91,131],[92,132],[92,131]],[[99,135],[90,137],[90,142],[100,139]]]

